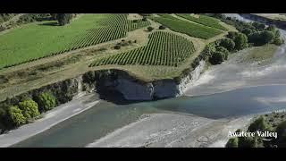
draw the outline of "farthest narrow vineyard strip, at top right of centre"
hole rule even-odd
[[[216,28],[219,30],[226,30],[217,20],[215,20],[212,17],[208,17],[206,15],[199,15],[199,18],[196,18],[194,16],[191,16],[190,14],[176,14],[182,18],[185,18],[189,21],[195,21],[197,23],[212,27],[212,28]]]

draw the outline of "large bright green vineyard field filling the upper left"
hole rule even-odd
[[[127,14],[83,14],[66,26],[56,24],[29,23],[1,35],[0,69],[123,38],[127,31],[150,23],[129,21]]]

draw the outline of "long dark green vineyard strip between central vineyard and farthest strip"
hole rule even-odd
[[[160,17],[152,17],[151,19],[163,24],[171,30],[185,33],[190,37],[207,39],[223,33],[220,30],[215,30],[189,21],[179,20],[169,14],[160,14]]]

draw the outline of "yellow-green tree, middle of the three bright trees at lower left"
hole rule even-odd
[[[28,120],[39,115],[38,104],[31,98],[20,102],[19,108]]]

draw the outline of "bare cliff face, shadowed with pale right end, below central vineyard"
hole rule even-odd
[[[100,88],[117,90],[127,100],[154,100],[158,98],[178,97],[184,93],[188,86],[191,86],[198,80],[205,66],[205,61],[200,61],[198,67],[189,72],[179,83],[171,79],[140,82],[126,73],[115,70],[113,72],[114,79],[103,79],[105,83],[101,83],[104,86]]]

